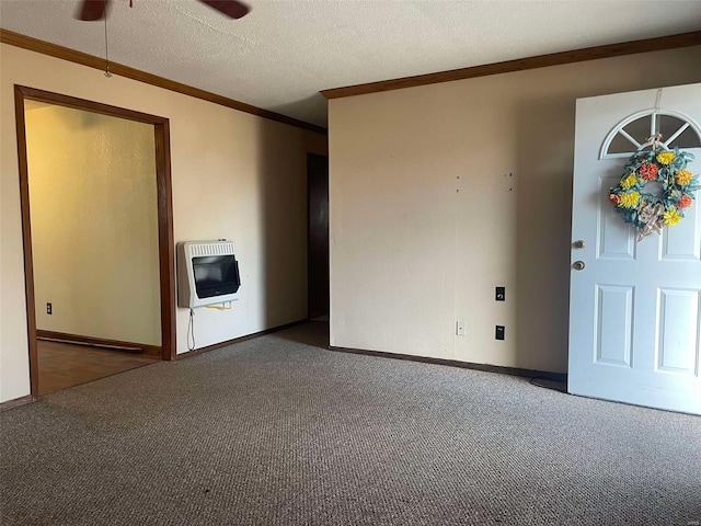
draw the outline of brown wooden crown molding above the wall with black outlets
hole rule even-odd
[[[471,68],[452,69],[450,71],[417,75],[414,77],[382,80],[379,82],[368,82],[366,84],[348,85],[345,88],[334,88],[330,90],[323,90],[321,93],[326,99],[341,99],[344,96],[364,95],[367,93],[377,93],[381,91],[402,90],[404,88],[415,88],[417,85],[436,84],[439,82],[450,82],[453,80],[473,79],[475,77],[486,77],[490,75],[509,73],[513,71],[547,68],[549,66],[561,66],[564,64],[596,60],[599,58],[620,57],[623,55],[659,52],[664,49],[676,49],[678,47],[690,47],[698,45],[701,45],[701,31],[693,31],[691,33],[660,36],[657,38],[645,38],[643,41],[623,42],[620,44],[586,47],[584,49],[574,49],[571,52],[538,55],[535,57],[520,58],[517,60],[507,60],[505,62],[485,64],[483,66],[473,66]]]

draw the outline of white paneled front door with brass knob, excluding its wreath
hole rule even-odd
[[[577,100],[573,395],[701,414],[701,192],[679,225],[640,242],[608,202],[630,156],[656,132],[668,148],[694,155],[687,168],[699,174],[700,121],[701,84]]]

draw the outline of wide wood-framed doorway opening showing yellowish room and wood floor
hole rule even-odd
[[[68,387],[68,364],[79,384],[173,359],[168,118],[21,85],[14,95],[32,398]],[[61,134],[46,134],[51,119]]]

